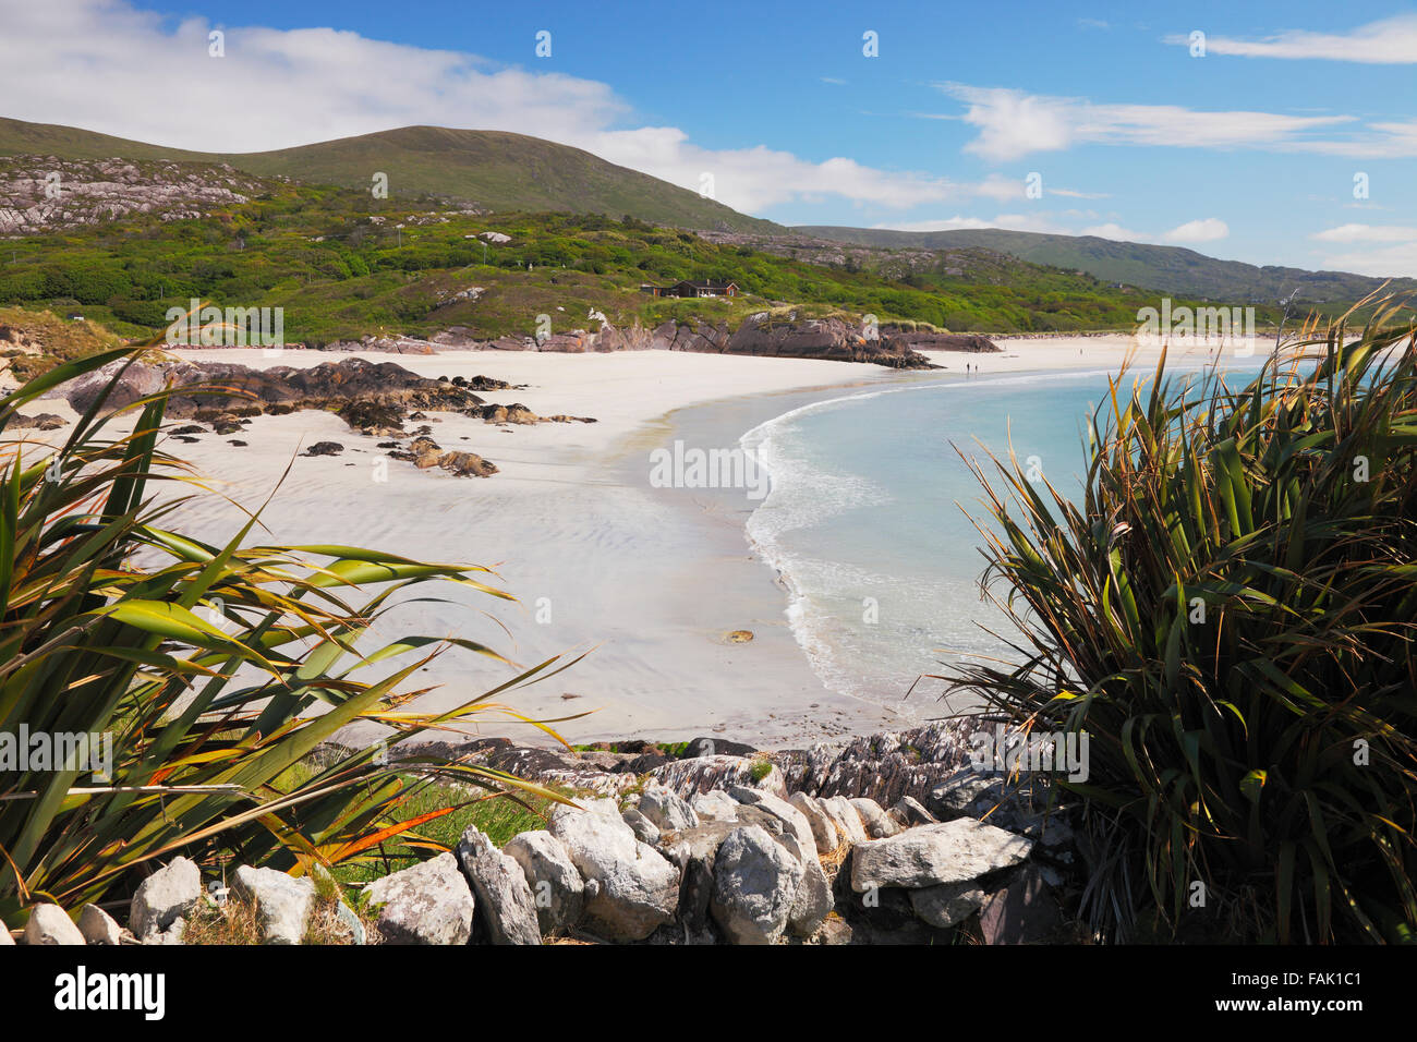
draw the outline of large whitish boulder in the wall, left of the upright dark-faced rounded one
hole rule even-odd
[[[601,808],[580,811],[557,807],[551,814],[551,835],[565,845],[571,862],[585,880],[587,923],[606,940],[638,941],[673,919],[679,904],[679,869],[659,851],[635,838],[611,800]]]

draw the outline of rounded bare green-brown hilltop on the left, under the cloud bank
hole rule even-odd
[[[0,156],[4,155],[230,163],[262,177],[366,190],[376,173],[384,173],[395,198],[432,194],[470,200],[492,210],[629,214],[682,228],[781,231],[771,221],[747,217],[589,152],[493,130],[405,126],[275,152],[204,153],[0,118]]]

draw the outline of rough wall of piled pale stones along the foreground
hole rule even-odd
[[[343,899],[337,921],[353,943],[384,944],[932,943],[959,929],[983,943],[1054,939],[1057,893],[1074,859],[1068,815],[1037,792],[959,766],[961,733],[945,723],[874,736],[815,764],[811,753],[794,760],[747,747],[720,751],[700,739],[642,774],[614,770],[632,750],[591,750],[582,781],[588,764],[599,764],[604,778],[631,784],[557,805],[546,828],[500,849],[469,827],[453,851],[364,887],[373,937]],[[918,774],[907,770],[907,749]],[[519,767],[524,777],[565,777],[564,761],[546,750],[418,750],[434,753]],[[893,758],[901,763],[890,768]],[[890,768],[874,791],[901,792],[888,809],[847,794],[870,787],[853,764],[871,760]],[[266,943],[307,936],[312,880],[241,866],[232,890],[252,903]],[[95,906],[75,923],[41,904],[23,940],[180,944],[184,917],[201,900],[208,897],[197,866],[177,858],[137,887],[126,927]],[[0,943],[7,939],[0,931]]]

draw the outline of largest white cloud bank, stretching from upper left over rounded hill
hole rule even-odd
[[[0,96],[6,113],[203,152],[255,152],[429,123],[512,130],[574,145],[761,211],[825,196],[905,208],[971,186],[852,159],[812,162],[768,147],[713,150],[672,126],[633,126],[606,84],[504,67],[470,54],[393,44],[333,28],[164,23],[126,0],[6,4]],[[529,61],[530,44],[529,44]],[[534,65],[533,65],[534,68]]]

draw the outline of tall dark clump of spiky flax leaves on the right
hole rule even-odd
[[[1114,384],[1081,502],[975,466],[1019,658],[944,679],[1090,734],[1057,784],[1101,933],[1417,940],[1414,329],[1389,305],[1244,387]]]

